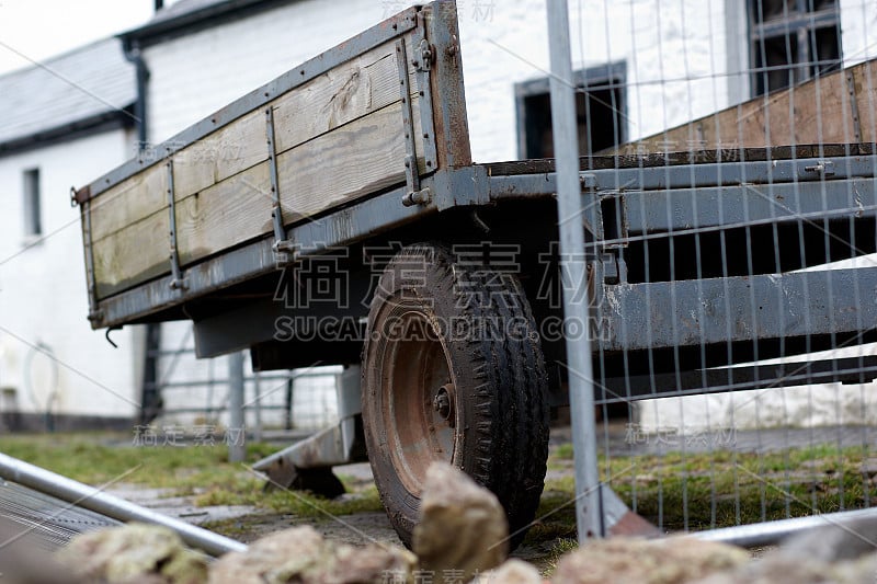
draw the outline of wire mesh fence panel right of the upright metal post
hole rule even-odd
[[[602,480],[671,531],[874,505],[877,5],[569,5]]]

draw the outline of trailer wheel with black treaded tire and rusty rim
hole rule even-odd
[[[417,426],[412,428],[408,412],[397,412],[388,403],[407,401],[407,393],[400,392],[402,388],[391,386],[394,380],[411,379],[410,375],[399,377],[394,373],[405,370],[394,367],[403,367],[399,365],[399,356],[406,355],[406,346],[413,346],[405,345],[413,341],[400,340],[405,339],[398,330],[400,319],[428,322],[435,343],[430,346],[441,345],[446,358],[454,388],[451,456],[446,448],[423,451],[421,445],[417,453],[400,454],[405,448],[394,450],[391,446],[406,442],[398,436],[401,432],[398,428],[409,432],[408,443],[414,442],[411,435],[420,432]],[[456,319],[455,334],[446,325],[452,319]],[[505,333],[472,333],[485,322],[509,325]],[[460,334],[466,327],[470,334]],[[368,336],[363,351],[363,422],[380,499],[407,546],[411,546],[419,518],[419,480],[433,459],[448,459],[490,489],[509,518],[510,549],[523,540],[539,504],[548,457],[547,376],[536,330],[529,305],[513,275],[455,264],[452,254],[441,245],[408,247],[381,274],[368,313]],[[414,351],[405,363],[417,362],[420,353]],[[428,374],[422,374],[420,379],[425,377]],[[418,403],[429,410],[428,396],[417,399],[413,405],[408,403],[409,411],[417,410]],[[428,419],[429,412],[423,415]],[[429,420],[425,425],[429,428],[422,428],[424,436],[437,434]],[[411,470],[413,467],[415,471]]]

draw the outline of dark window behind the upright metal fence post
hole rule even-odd
[[[579,152],[595,153],[626,139],[624,62],[576,72]],[[519,158],[553,158],[548,78],[515,85]]]

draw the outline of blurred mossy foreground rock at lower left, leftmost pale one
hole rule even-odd
[[[207,577],[205,556],[186,549],[172,530],[153,525],[134,523],[77,536],[57,558],[77,576],[111,584],[197,584]]]

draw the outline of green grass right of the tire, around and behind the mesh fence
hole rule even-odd
[[[549,467],[563,467],[571,448],[553,450]],[[775,454],[715,451],[685,455],[600,456],[601,477],[636,511],[667,530],[728,527],[787,516],[861,508],[877,503],[862,474],[875,453],[863,447],[813,446]],[[572,477],[548,480],[539,517],[527,540],[574,537]],[[567,535],[569,534],[569,535]]]

